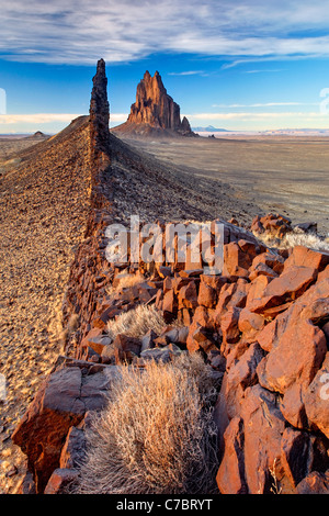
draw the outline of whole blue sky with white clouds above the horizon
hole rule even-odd
[[[106,61],[111,125],[158,70],[192,127],[329,128],[329,0],[0,0],[0,133],[88,114]]]

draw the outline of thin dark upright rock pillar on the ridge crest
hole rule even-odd
[[[97,74],[92,82],[89,110],[91,145],[94,149],[106,152],[110,141],[110,104],[107,101],[107,78],[104,59],[98,61]]]

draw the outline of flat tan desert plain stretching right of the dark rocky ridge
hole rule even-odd
[[[129,142],[127,139],[127,142]],[[329,138],[317,136],[225,136],[129,142],[194,178],[216,179],[240,201],[293,223],[317,222],[329,232]]]

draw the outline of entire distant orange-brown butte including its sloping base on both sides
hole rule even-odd
[[[180,106],[167,93],[158,71],[151,77],[146,71],[137,86],[136,102],[131,108],[128,120],[114,132],[136,136],[196,136]]]

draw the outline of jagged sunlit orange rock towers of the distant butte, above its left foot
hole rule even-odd
[[[181,122],[180,106],[167,93],[161,76],[147,70],[137,86],[136,102],[131,108],[127,124],[147,124],[155,128],[192,133],[189,121]]]

